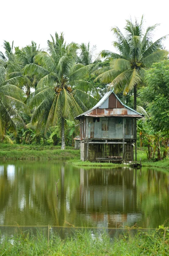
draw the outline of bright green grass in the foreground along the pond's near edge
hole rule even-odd
[[[164,230],[163,230],[164,231]],[[14,237],[0,237],[1,256],[168,256],[169,231],[159,233],[138,232],[124,234],[118,239],[110,239],[109,234],[91,234],[90,231],[75,231],[75,235],[61,240],[55,234],[48,237],[42,234],[14,235]]]

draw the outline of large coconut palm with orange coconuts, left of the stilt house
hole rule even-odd
[[[78,45],[66,44],[63,34],[55,33],[55,38],[48,40],[48,52],[39,52],[28,64],[24,73],[37,76],[37,90],[28,99],[34,109],[32,123],[38,121],[37,129],[45,124],[45,133],[49,126],[62,123],[62,149],[65,149],[65,119],[74,118],[82,110],[87,110],[96,103],[90,95],[95,87],[82,78],[87,75],[93,64],[84,66],[75,64]]]

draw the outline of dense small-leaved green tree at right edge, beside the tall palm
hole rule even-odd
[[[153,64],[146,74],[147,86],[140,90],[140,97],[147,102],[147,111],[155,131],[168,132],[169,61]]]

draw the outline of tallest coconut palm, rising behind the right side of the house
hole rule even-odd
[[[168,52],[162,49],[163,36],[152,43],[152,33],[158,24],[149,26],[144,33],[143,16],[141,23],[137,20],[127,20],[125,35],[118,27],[113,27],[116,41],[113,46],[118,53],[104,50],[101,56],[110,58],[110,67],[103,67],[97,71],[99,75],[95,80],[107,82],[114,87],[115,92],[127,94],[134,88],[134,109],[136,110],[137,87],[144,84],[145,71],[153,62],[163,60]]]

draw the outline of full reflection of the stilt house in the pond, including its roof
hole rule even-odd
[[[137,170],[80,170],[78,212],[87,213],[96,223],[109,227],[133,225],[140,219],[137,207]]]

